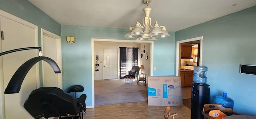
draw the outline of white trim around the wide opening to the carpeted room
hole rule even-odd
[[[154,41],[140,41],[140,40],[117,40],[117,39],[91,39],[91,50],[92,50],[92,108],[95,107],[95,94],[94,94],[94,41],[104,41],[104,42],[126,42],[126,43],[150,43],[150,74],[149,76],[153,76],[153,51],[154,51]],[[87,107],[87,106],[86,106]]]

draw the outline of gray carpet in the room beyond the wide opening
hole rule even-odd
[[[140,82],[124,83],[124,79],[95,80],[95,105],[141,102],[148,100],[147,86]]]

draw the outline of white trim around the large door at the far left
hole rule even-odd
[[[26,25],[26,26],[28,26],[28,27],[31,27],[31,28],[33,28],[34,29],[34,31],[35,31],[35,47],[38,47],[38,26],[37,25],[34,25],[33,23],[30,23],[30,22],[28,22],[28,21],[25,21],[25,20],[23,20],[23,19],[21,19],[21,18],[18,18],[18,17],[16,17],[16,16],[14,16],[14,15],[12,15],[12,14],[10,14],[10,13],[8,13],[8,12],[5,12],[5,11],[3,11],[3,10],[0,10],[0,16],[2,16],[2,17],[4,17],[4,18],[8,18],[8,19],[10,19],[10,20],[13,20],[13,21],[16,21],[16,22],[18,22],[18,23],[21,23],[21,24],[23,24],[23,25]],[[2,58],[1,58],[1,60],[2,60]],[[37,88],[39,88],[39,64],[38,63],[36,63],[35,64],[36,65],[36,87]],[[1,78],[0,79],[2,79],[2,76],[1,76]],[[0,89],[0,105],[1,105],[1,111],[0,111],[0,115],[1,115],[1,119],[5,119],[5,104],[4,104],[4,82],[3,82],[4,80],[0,80],[0,87],[1,87],[1,89]]]

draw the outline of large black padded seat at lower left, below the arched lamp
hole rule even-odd
[[[74,99],[57,87],[40,87],[33,90],[24,103],[24,108],[34,119],[69,116],[80,117],[79,109],[85,103],[86,94]],[[74,116],[77,115],[78,116]]]

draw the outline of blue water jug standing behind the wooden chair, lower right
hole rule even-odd
[[[232,108],[234,107],[234,100],[227,97],[227,93],[223,92],[222,96],[215,97],[215,103],[220,104],[223,107]]]

